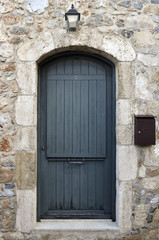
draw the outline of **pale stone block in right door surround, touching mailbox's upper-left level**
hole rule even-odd
[[[118,124],[129,125],[132,123],[131,102],[128,100],[118,100],[117,102]]]

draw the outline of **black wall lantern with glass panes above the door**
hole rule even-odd
[[[74,9],[72,4],[71,9],[65,13],[65,20],[67,21],[68,30],[69,31],[76,31],[78,21],[80,20],[80,13]]]

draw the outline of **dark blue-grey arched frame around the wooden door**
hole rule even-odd
[[[101,60],[102,62],[105,62],[106,64],[111,66],[111,81],[112,81],[112,92],[111,92],[111,122],[112,122],[112,129],[111,129],[111,156],[112,156],[112,194],[111,194],[111,200],[112,200],[112,220],[116,220],[116,81],[115,81],[115,65],[110,60],[92,53],[87,52],[81,52],[81,51],[65,51],[62,53],[57,53],[44,61],[42,61],[38,66],[38,91],[37,91],[37,221],[40,221],[40,185],[41,185],[41,179],[40,179],[40,156],[41,156],[41,139],[40,139],[40,116],[41,116],[41,98],[40,98],[40,82],[42,78],[42,67],[47,64],[48,62],[58,59],[62,56],[72,56],[72,55],[81,55],[81,56],[88,56],[94,59]]]

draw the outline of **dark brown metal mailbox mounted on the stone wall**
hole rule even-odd
[[[155,145],[155,117],[135,116],[135,144]]]

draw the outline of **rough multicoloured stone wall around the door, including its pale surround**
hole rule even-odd
[[[116,65],[118,231],[36,229],[37,66],[65,50]],[[134,114],[156,116],[155,146],[134,146]],[[159,239],[158,120],[159,0],[0,0],[0,240]]]

